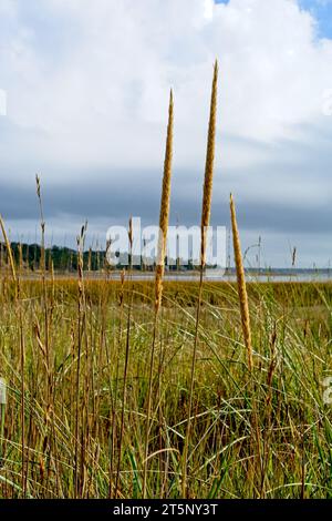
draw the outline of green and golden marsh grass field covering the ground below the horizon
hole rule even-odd
[[[154,284],[83,278],[80,287],[22,280],[18,296],[0,279],[1,498],[143,496]],[[198,290],[194,282],[164,283],[149,498],[181,497]],[[331,498],[332,411],[322,380],[332,370],[332,285],[248,285],[251,371],[236,285],[204,283],[201,295],[188,496]]]

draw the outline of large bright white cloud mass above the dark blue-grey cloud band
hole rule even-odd
[[[232,176],[216,188],[325,204],[332,40],[317,34],[295,0],[1,0],[0,167],[27,184],[35,168],[71,184],[121,167],[139,186],[162,170],[172,86],[178,183],[196,190],[218,58],[217,166]]]

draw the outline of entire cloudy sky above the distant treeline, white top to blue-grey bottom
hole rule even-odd
[[[169,88],[172,222],[199,222],[212,64],[219,61],[212,223],[229,193],[263,263],[332,259],[331,0],[0,0],[0,213],[12,239],[104,243],[158,216]],[[7,95],[7,114],[3,96]],[[252,254],[255,249],[252,249]]]

